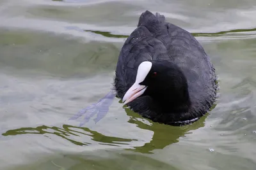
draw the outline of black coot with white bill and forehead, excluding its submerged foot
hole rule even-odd
[[[204,48],[184,29],[150,11],[120,52],[117,96],[145,118],[169,125],[195,122],[216,99],[216,74]]]

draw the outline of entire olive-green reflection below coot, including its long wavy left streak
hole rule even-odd
[[[204,117],[200,118],[200,120],[196,121],[194,124],[179,127],[159,124],[157,122],[152,122],[151,120],[148,120],[150,124],[145,124],[143,121],[141,121],[141,119],[143,119],[141,115],[138,115],[134,111],[131,111],[129,109],[125,109],[125,111],[127,113],[127,116],[130,117],[128,120],[130,124],[136,124],[136,126],[140,129],[145,129],[154,132],[152,139],[150,141],[144,143],[144,145],[142,146],[133,146],[131,148],[130,145],[132,145],[134,141],[138,141],[138,139],[105,136],[100,132],[88,129],[87,127],[76,127],[67,124],[62,125],[62,127],[49,127],[45,125],[41,125],[38,127],[22,127],[19,129],[8,130],[4,132],[2,135],[17,136],[22,134],[41,134],[47,138],[51,138],[51,135],[56,135],[79,146],[92,145],[93,141],[96,141],[99,145],[109,145],[117,147],[123,146],[125,150],[131,150],[140,153],[153,153],[154,150],[163,149],[168,145],[177,143],[180,137],[186,136],[186,134],[191,133],[191,131],[199,129],[200,127],[204,127],[205,118],[207,117],[206,114]],[[75,136],[77,136],[78,138],[74,139]],[[79,141],[79,139],[84,139],[80,138],[83,136],[90,136],[91,139],[86,139],[86,141]],[[141,141],[138,142],[141,143]],[[129,146],[129,148],[126,147],[127,145]]]

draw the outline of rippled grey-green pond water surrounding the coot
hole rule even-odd
[[[97,124],[68,120],[105,96],[145,11],[192,32],[220,97],[193,125],[156,124],[118,99]],[[255,169],[256,1],[0,1],[1,169]]]

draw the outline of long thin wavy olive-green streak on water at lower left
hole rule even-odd
[[[137,139],[124,139],[112,136],[105,136],[104,134],[100,134],[99,132],[91,131],[86,127],[76,127],[72,125],[62,125],[62,128],[56,126],[48,127],[45,125],[41,125],[38,127],[22,127],[19,129],[8,130],[4,132],[2,135],[16,136],[20,134],[43,134],[45,137],[48,138],[51,138],[48,136],[49,134],[54,134],[56,136],[60,136],[63,139],[67,139],[71,143],[79,146],[91,145],[92,143],[84,141],[75,141],[74,139],[71,139],[72,136],[91,136],[93,141],[99,142],[99,145],[110,146],[129,145],[129,142],[137,141]]]

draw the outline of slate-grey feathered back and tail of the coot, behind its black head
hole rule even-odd
[[[138,27],[125,41],[118,58],[115,88],[119,97],[134,83],[138,66],[145,60],[168,60],[177,64],[188,80],[195,111],[209,110],[216,95],[214,67],[188,31],[166,22],[159,13],[142,13]]]

